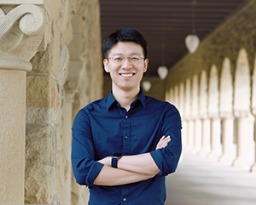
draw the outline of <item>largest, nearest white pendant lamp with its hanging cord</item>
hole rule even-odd
[[[189,34],[185,38],[185,44],[190,54],[195,53],[195,50],[198,48],[200,43],[199,37],[195,35],[195,4],[196,4],[196,1],[192,0],[192,34]]]

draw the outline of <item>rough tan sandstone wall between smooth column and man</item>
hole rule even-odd
[[[73,118],[81,107],[102,97],[99,3],[45,1],[44,13],[48,42],[32,58],[26,79],[25,203],[79,205],[86,202],[88,191],[75,182],[66,185],[72,170],[70,150],[63,147],[69,144],[70,149],[72,124],[63,128],[63,116]],[[72,106],[65,111],[71,115],[64,115],[68,103]],[[72,202],[63,200],[63,189]]]

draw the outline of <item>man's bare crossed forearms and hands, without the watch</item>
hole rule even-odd
[[[170,141],[170,136],[163,136],[155,150],[166,147]],[[98,162],[104,166],[94,180],[94,185],[126,185],[153,178],[160,173],[150,153],[121,157],[118,168],[111,167],[111,157],[105,157]]]

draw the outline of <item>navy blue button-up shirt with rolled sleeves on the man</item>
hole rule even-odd
[[[172,141],[155,151],[163,135],[170,135]],[[142,88],[129,111],[110,92],[107,98],[81,109],[73,122],[73,174],[79,185],[89,186],[91,205],[164,204],[165,176],[175,172],[181,151],[181,119],[176,107],[145,96]],[[129,185],[93,185],[103,167],[96,161],[115,152],[124,156],[150,152],[160,174]]]

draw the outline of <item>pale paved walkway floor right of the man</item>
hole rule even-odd
[[[256,174],[183,152],[166,205],[256,205]]]

